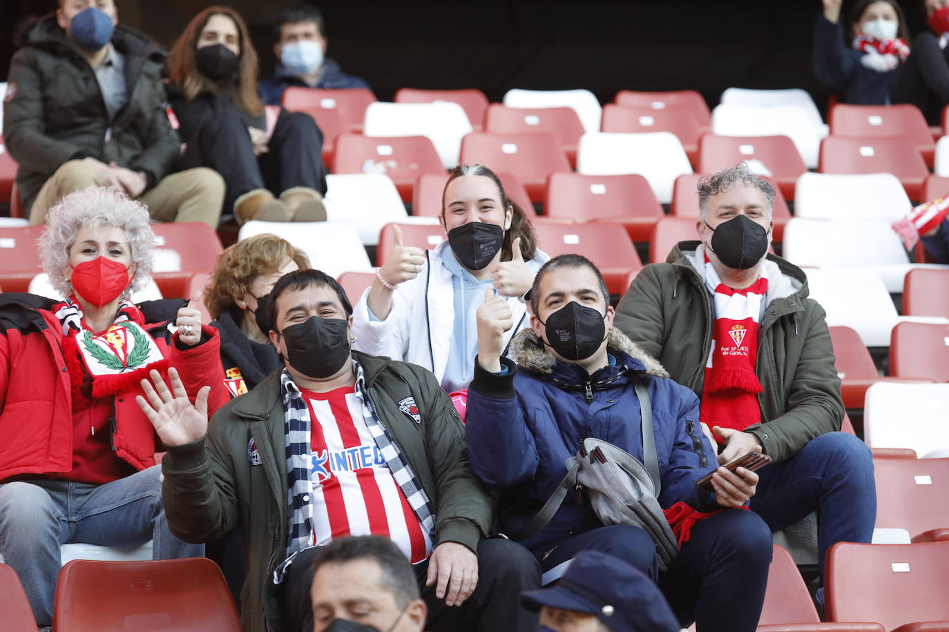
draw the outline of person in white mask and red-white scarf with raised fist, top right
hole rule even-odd
[[[842,0],[823,0],[814,24],[814,75],[854,105],[890,102],[897,70],[909,56],[909,31],[895,0],[860,0],[842,24]]]

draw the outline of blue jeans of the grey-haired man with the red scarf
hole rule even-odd
[[[816,437],[789,460],[758,472],[754,513],[781,531],[817,512],[820,582],[827,551],[838,542],[869,542],[877,519],[873,456],[845,432]]]

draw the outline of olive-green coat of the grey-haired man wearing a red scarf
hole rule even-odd
[[[623,334],[659,359],[674,380],[701,396],[712,346],[711,296],[686,258],[698,242],[681,242],[665,263],[645,266],[617,308]],[[749,426],[774,460],[790,459],[811,439],[840,430],[844,404],[824,309],[808,298],[808,279],[774,255],[796,291],[774,298],[758,325],[754,372],[762,424]]]

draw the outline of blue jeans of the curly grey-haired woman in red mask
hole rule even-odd
[[[103,485],[31,479],[0,485],[0,553],[20,577],[39,626],[52,624],[60,545],[134,547],[157,560],[199,557],[204,545],[168,531],[158,465]]]

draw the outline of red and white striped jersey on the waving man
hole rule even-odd
[[[347,535],[381,535],[415,564],[432,553],[399,484],[363,421],[355,388],[300,391],[310,415],[313,546]]]

